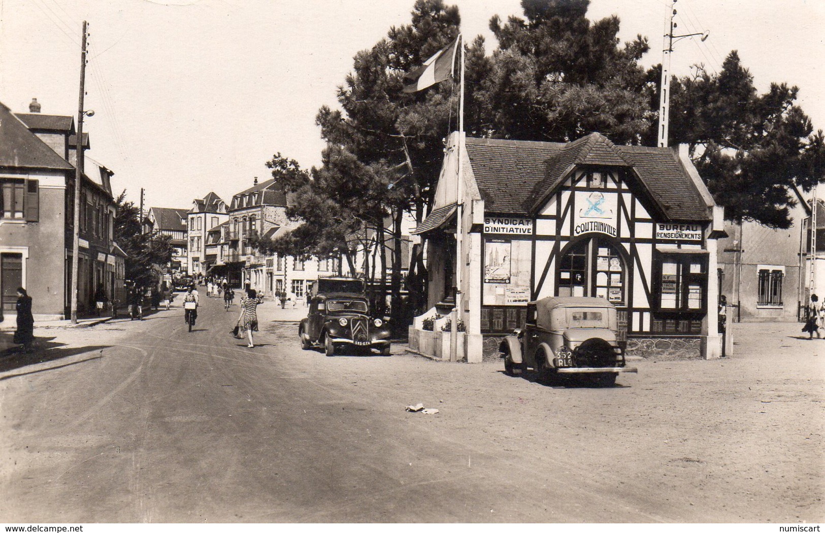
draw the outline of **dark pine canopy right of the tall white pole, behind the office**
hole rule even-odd
[[[798,93],[796,86],[771,83],[758,94],[736,50],[719,74],[696,68],[695,76],[672,82],[671,143],[690,145],[725,217],[790,227],[791,187],[810,190],[823,180],[823,133],[794,103]]]

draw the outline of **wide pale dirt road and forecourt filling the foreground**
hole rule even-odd
[[[249,350],[210,303],[191,334],[162,311],[0,360],[2,521],[825,519],[825,340],[801,326],[545,386],[401,347],[326,358],[291,323]]]

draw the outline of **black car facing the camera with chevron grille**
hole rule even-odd
[[[298,334],[301,348],[322,347],[328,356],[342,348],[389,355],[389,327],[370,316],[369,301],[358,294],[319,293],[309,302],[309,316],[301,320]]]

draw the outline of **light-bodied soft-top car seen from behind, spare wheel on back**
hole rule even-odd
[[[617,334],[616,308],[604,298],[547,297],[527,304],[524,330],[507,335],[499,353],[507,374],[530,367],[542,378],[587,375],[613,385],[620,372],[637,372],[625,366]]]

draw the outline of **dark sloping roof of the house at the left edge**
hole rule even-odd
[[[71,171],[74,167],[0,104],[0,166]]]

